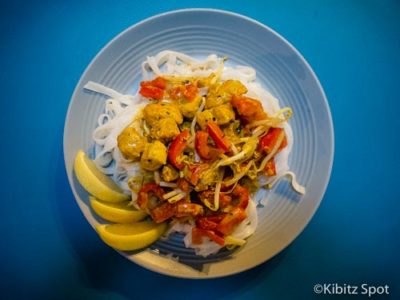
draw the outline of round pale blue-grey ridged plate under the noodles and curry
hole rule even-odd
[[[142,21],[106,45],[82,75],[66,117],[64,155],[71,188],[94,226],[99,219],[73,174],[73,160],[78,149],[88,151],[93,145],[91,134],[105,98],[84,91],[83,85],[92,80],[122,93],[133,93],[141,79],[141,62],[165,49],[198,57],[227,55],[231,63],[257,70],[258,81],[280,99],[281,106],[294,111],[289,165],[307,193],[299,196],[286,181],[268,192],[268,201],[258,209],[256,233],[228,259],[224,258],[226,252],[207,259],[197,257],[177,237],[158,242],[155,248],[178,254],[184,263],[151,249],[120,253],[145,268],[178,277],[211,278],[248,270],[284,249],[304,229],[321,202],[333,161],[332,119],[317,77],[292,45],[257,21],[219,10],[179,10]]]

